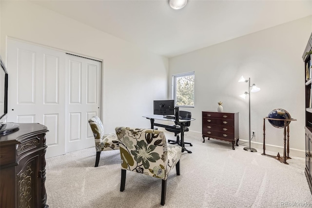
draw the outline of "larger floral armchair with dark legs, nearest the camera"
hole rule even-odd
[[[166,142],[163,131],[116,127],[121,156],[120,191],[125,189],[126,170],[162,179],[161,205],[165,204],[167,177],[176,166],[180,175],[181,146]]]

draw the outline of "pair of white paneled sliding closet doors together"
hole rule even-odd
[[[7,70],[7,121],[46,125],[46,158],[95,146],[101,62],[9,39]]]

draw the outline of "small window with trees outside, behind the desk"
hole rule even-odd
[[[176,106],[194,107],[194,82],[195,73],[188,72],[172,76],[173,99]]]

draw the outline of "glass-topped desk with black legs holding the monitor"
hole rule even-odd
[[[174,125],[157,124],[157,123],[155,123],[155,120],[170,121],[170,122],[174,122],[176,125],[179,125],[180,128],[181,128],[181,138],[180,139],[181,139],[182,152],[187,151],[188,153],[192,153],[192,151],[187,150],[184,147],[184,127],[185,127],[185,123],[186,122],[194,121],[195,119],[193,119],[193,118],[187,119],[187,120],[178,119],[176,121],[176,119],[164,118],[164,116],[162,116],[162,115],[148,115],[148,116],[143,116],[143,117],[147,118],[147,119],[149,119],[151,121],[151,128],[152,129],[154,128],[154,126],[176,129],[176,126],[174,126]]]

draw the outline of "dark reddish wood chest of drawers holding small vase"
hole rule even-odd
[[[232,142],[238,146],[238,112],[202,111],[202,136]]]

